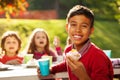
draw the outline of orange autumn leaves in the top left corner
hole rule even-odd
[[[26,0],[0,0],[0,14],[5,14],[6,18],[17,16],[26,11],[28,2]]]

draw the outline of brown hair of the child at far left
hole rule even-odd
[[[15,32],[15,31],[6,31],[6,32],[2,35],[2,38],[1,38],[1,49],[2,49],[2,53],[5,52],[5,54],[6,54],[6,50],[5,50],[4,44],[5,44],[5,41],[6,41],[6,38],[7,38],[7,37],[15,37],[15,38],[17,39],[19,46],[18,46],[18,50],[16,51],[16,54],[18,54],[18,52],[19,52],[19,50],[20,50],[20,48],[21,48],[21,39],[20,39],[20,37],[18,36],[17,32]]]

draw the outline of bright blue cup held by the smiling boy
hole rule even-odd
[[[47,76],[49,75],[49,58],[46,59],[39,59],[38,60],[40,72],[42,76]]]

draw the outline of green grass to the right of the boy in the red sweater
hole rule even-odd
[[[115,21],[96,21],[92,41],[101,49],[112,50],[112,57],[120,57],[120,24]]]

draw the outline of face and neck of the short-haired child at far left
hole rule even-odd
[[[7,55],[16,55],[19,48],[18,40],[14,36],[7,37],[4,43],[4,49]]]

